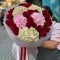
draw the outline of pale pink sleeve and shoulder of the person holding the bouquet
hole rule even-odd
[[[60,23],[54,24],[54,30],[51,33],[51,40],[60,42]]]

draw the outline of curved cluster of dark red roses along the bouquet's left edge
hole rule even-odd
[[[8,11],[8,14],[6,15],[6,18],[7,18],[6,24],[11,28],[11,30],[15,35],[18,35],[19,30],[16,27],[15,23],[13,22],[13,16],[12,16],[13,9],[14,8],[10,9]]]

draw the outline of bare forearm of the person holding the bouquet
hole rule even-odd
[[[41,46],[47,49],[55,49],[58,44],[59,42],[55,40],[49,40],[49,41],[45,41]]]

